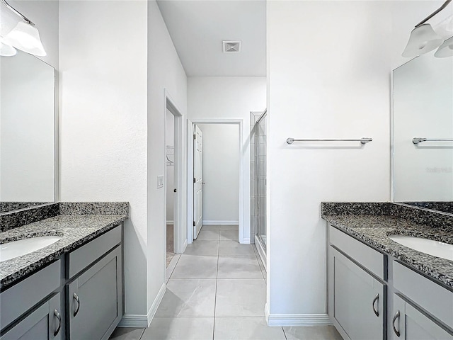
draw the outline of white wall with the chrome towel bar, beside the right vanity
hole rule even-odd
[[[389,13],[385,1],[268,1],[270,324],[327,322],[321,202],[390,198]]]

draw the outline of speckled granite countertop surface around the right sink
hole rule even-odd
[[[330,222],[333,227],[343,230],[379,251],[394,256],[401,262],[453,290],[453,261],[415,251],[392,241],[388,237],[391,234],[402,234],[453,244],[453,229],[445,225],[433,227],[429,222],[413,222],[407,217],[407,211],[405,214],[404,218],[398,216],[398,214],[372,215],[368,212],[357,215],[328,215],[323,213],[322,217]]]

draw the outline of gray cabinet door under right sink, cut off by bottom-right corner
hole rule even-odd
[[[446,331],[432,319],[415,309],[411,304],[394,294],[394,315],[391,324],[391,339],[407,340],[453,340],[453,334]]]

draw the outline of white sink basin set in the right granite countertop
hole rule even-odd
[[[389,238],[408,248],[453,261],[453,244],[404,235],[390,235]]]

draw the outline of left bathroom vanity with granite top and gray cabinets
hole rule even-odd
[[[37,221],[0,232],[1,244],[49,235],[58,239],[0,262],[2,340],[108,339],[122,318],[127,203],[54,205],[57,209],[28,211]]]

